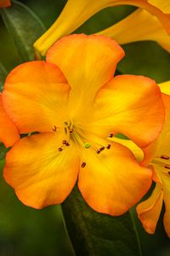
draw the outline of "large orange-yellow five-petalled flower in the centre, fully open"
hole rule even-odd
[[[72,35],[8,75],[3,103],[20,133],[8,152],[4,177],[20,201],[59,204],[78,179],[82,196],[98,212],[120,215],[150,188],[150,169],[111,142],[123,133],[139,147],[156,139],[164,122],[161,92],[142,76],[113,78],[124,55],[110,38]]]

